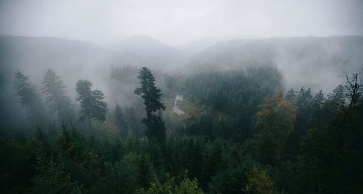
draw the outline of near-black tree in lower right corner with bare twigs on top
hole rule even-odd
[[[298,184],[289,193],[362,193],[363,106],[357,101],[362,86],[358,75],[347,76],[346,86],[339,85],[328,95],[327,106],[334,110],[328,115],[330,122],[302,137],[295,172]]]

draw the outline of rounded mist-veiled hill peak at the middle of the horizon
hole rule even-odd
[[[185,54],[147,35],[134,35],[121,40],[111,47],[115,51],[132,54],[146,62],[147,66],[172,69],[182,63]]]

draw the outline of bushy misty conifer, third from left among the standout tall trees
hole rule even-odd
[[[88,120],[91,128],[91,119],[104,122],[106,120],[107,104],[102,101],[104,93],[101,90],[91,90],[92,82],[88,80],[78,80],[76,83],[76,91],[78,93],[77,101],[81,103],[82,114],[81,121]]]

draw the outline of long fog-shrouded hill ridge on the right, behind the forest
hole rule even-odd
[[[229,40],[193,55],[186,71],[272,65],[282,71],[287,88],[306,86],[330,92],[344,83],[337,76],[363,68],[362,53],[363,36]]]

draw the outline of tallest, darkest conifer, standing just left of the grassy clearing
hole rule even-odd
[[[155,78],[150,69],[142,67],[137,78],[140,80],[141,87],[136,88],[134,93],[144,99],[147,118],[142,119],[142,123],[148,127],[149,138],[155,137],[164,142],[166,137],[165,123],[161,118],[161,110],[165,110],[161,102],[161,90],[155,86]],[[159,112],[159,114],[155,114]]]

